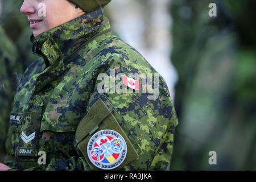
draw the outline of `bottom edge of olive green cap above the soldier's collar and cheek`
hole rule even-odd
[[[111,0],[68,0],[75,5],[79,6],[86,13],[97,9],[98,7],[104,7],[108,5]]]

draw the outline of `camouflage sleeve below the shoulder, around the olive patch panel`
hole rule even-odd
[[[140,92],[136,93],[123,85],[121,78],[123,75],[129,76],[129,73],[141,74],[143,69],[129,67],[123,61],[117,60],[103,64],[99,68],[102,74],[98,75],[95,81],[94,92],[89,99],[87,108],[88,110],[93,110],[98,100],[102,100],[111,115],[113,115],[113,120],[117,122],[112,124],[109,119],[110,116],[106,114],[105,119],[102,122],[98,122],[98,126],[93,125],[91,129],[95,126],[104,129],[101,125],[106,125],[106,129],[113,130],[114,128],[117,129],[118,126],[122,128],[120,131],[123,131],[123,137],[127,137],[126,143],[131,143],[133,147],[130,147],[130,149],[127,147],[126,158],[128,159],[126,160],[129,163],[123,162],[124,164],[121,164],[116,169],[164,170],[171,162],[174,129],[178,123],[166,82],[164,78],[156,74],[159,76],[159,95],[155,98],[150,97],[154,94],[152,92],[142,93],[142,88]],[[156,73],[152,68],[151,71],[151,73]],[[150,73],[150,71],[147,70],[146,73]],[[142,76],[142,80],[143,78]],[[143,84],[142,82],[142,87]],[[152,81],[152,84],[154,85],[154,81]],[[97,106],[97,109],[96,113],[104,113],[100,105]],[[92,113],[94,112],[92,111]],[[83,137],[85,136],[86,133]],[[85,151],[87,143],[85,142],[84,147],[79,148],[85,158],[87,158],[87,151]],[[129,152],[134,156],[128,155]],[[90,167],[97,169],[92,163],[89,164]]]

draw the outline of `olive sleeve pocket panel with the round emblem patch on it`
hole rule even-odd
[[[114,107],[98,98],[77,127],[76,145],[93,170],[120,169],[138,158],[134,139],[115,115]]]

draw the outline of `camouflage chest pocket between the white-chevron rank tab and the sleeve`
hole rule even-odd
[[[56,96],[54,100],[58,98]],[[85,101],[72,99],[47,105],[42,117],[39,141],[39,150],[46,152],[47,165],[52,159],[70,159],[78,155],[74,146],[75,131],[85,109]]]

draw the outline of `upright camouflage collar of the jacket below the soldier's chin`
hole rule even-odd
[[[55,64],[57,60],[65,61],[94,36],[109,30],[109,21],[105,18],[103,9],[99,8],[43,32],[36,38],[31,35],[32,52],[42,56],[48,67]]]

